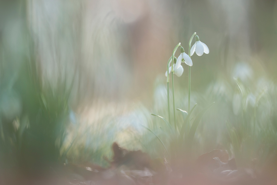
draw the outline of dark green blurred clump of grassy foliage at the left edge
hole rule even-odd
[[[43,86],[37,69],[35,62],[23,62],[14,81],[0,84],[1,164],[19,166],[25,172],[60,161],[70,123],[71,89],[66,80],[60,79],[55,88],[47,81]]]

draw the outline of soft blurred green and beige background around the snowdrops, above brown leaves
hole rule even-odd
[[[3,0],[2,169],[32,171],[58,161],[105,166],[114,141],[162,156],[159,141],[140,124],[160,134],[161,120],[150,113],[168,118],[166,64],[179,42],[188,53],[194,32],[210,53],[191,57],[191,105],[199,112],[216,102],[197,129],[196,155],[233,153],[228,125],[243,137],[241,124],[256,133],[242,142],[244,155],[275,152],[276,1]],[[187,110],[188,66],[182,66],[175,103]],[[177,120],[183,122],[178,112]]]

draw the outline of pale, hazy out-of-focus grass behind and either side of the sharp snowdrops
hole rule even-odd
[[[247,67],[252,70],[250,66]],[[227,149],[230,156],[236,158],[238,166],[260,168],[266,161],[274,159],[272,156],[276,151],[276,85],[265,77],[252,76],[252,79],[248,78],[246,81],[236,77],[219,78],[203,93],[192,92],[192,103],[197,102],[199,105],[192,118],[210,102],[216,102],[208,114],[204,115],[196,130],[192,156],[196,158],[212,149]],[[150,116],[150,112],[153,112],[167,118],[166,86],[163,81],[165,79],[162,77],[157,78],[154,84],[152,108],[136,106],[119,111],[116,116],[105,115],[100,121],[86,124],[91,125],[87,126],[89,129],[83,127],[79,128],[80,132],[72,132],[77,137],[67,154],[71,161],[78,158],[106,164],[103,155],[111,156],[110,145],[113,141],[127,149],[142,149],[152,157],[162,157],[163,146],[153,134],[140,127],[140,124],[153,130],[170,148],[170,135],[164,134],[160,129],[160,126],[167,129],[166,124],[162,119]],[[186,110],[185,90],[186,88],[177,88],[176,108]],[[106,112],[105,109],[102,111]],[[183,118],[180,112],[176,113],[180,128]]]

